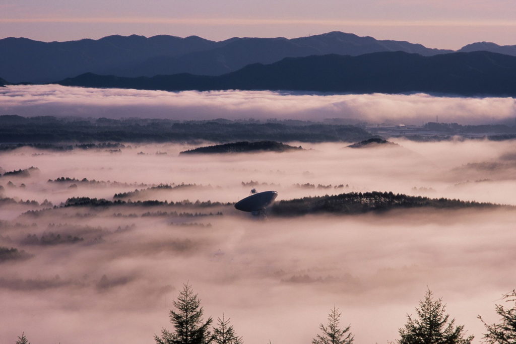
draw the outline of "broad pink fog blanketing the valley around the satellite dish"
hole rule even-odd
[[[22,148],[0,154],[2,173],[39,170],[3,176],[0,185],[2,198],[57,206],[135,189],[122,199],[235,202],[253,186],[277,190],[278,200],[375,190],[516,205],[512,142],[396,142],[211,156],[178,156],[192,146],[176,144],[127,144],[121,152]],[[48,182],[60,177],[74,180]],[[205,315],[224,312],[249,344],[310,342],[334,304],[357,342],[394,340],[427,286],[479,342],[477,314],[497,320],[494,303],[516,285],[512,210],[257,221],[232,205],[194,203],[24,214],[45,207],[0,205],[0,246],[34,255],[0,263],[2,342],[25,331],[33,343],[153,343],[162,327],[172,329],[168,310],[186,281]]]

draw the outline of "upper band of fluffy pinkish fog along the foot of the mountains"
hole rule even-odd
[[[149,91],[60,85],[0,89],[0,113],[20,116],[144,117],[176,120],[254,118],[320,121],[341,118],[371,123],[514,123],[512,97],[418,94],[303,94],[271,91]]]

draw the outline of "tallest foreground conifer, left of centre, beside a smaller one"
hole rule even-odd
[[[162,330],[162,336],[154,335],[158,344],[207,344],[212,342],[212,335],[208,331],[213,319],[203,321],[204,313],[201,300],[194,294],[192,287],[187,283],[179,292],[178,300],[174,301],[177,312],[170,310],[170,322],[175,331]]]

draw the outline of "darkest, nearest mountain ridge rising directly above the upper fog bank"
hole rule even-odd
[[[434,56],[404,52],[330,54],[254,63],[220,76],[182,73],[129,78],[86,73],[59,84],[169,91],[240,89],[514,96],[516,57],[490,52]]]

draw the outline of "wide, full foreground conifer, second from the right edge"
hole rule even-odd
[[[455,319],[445,315],[442,299],[433,299],[430,289],[416,307],[418,319],[407,315],[407,323],[399,329],[398,344],[470,344],[473,336],[464,338],[464,325],[455,326]]]

